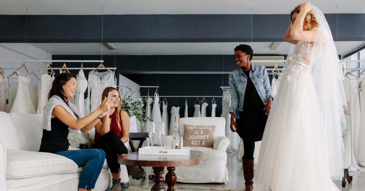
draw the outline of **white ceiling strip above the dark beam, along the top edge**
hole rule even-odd
[[[304,0],[1,0],[0,15],[289,14]],[[323,13],[365,13],[364,0],[311,0]]]

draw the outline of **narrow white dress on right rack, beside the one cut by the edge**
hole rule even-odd
[[[356,81],[356,80],[355,80]],[[360,148],[359,140],[360,140],[360,103],[358,96],[357,83],[350,84],[350,111],[351,111],[351,141],[352,141],[352,149],[354,151],[354,156],[358,161],[358,149]],[[362,145],[364,146],[364,145]]]

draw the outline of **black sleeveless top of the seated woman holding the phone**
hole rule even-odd
[[[51,130],[43,129],[39,152],[57,153],[68,150],[68,133],[68,126],[65,123],[62,123],[57,117],[51,118]]]

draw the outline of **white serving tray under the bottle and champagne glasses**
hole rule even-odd
[[[175,156],[187,156],[190,154],[190,147],[183,147],[181,149],[170,149],[170,147],[164,146],[146,146],[138,149],[138,154],[142,155],[175,155]]]

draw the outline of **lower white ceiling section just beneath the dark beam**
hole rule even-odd
[[[116,50],[108,50],[101,43],[49,43],[48,52],[53,55],[184,55],[184,54],[233,54],[240,43],[250,45],[254,54],[288,54],[293,51],[291,44],[282,42],[277,50],[270,50],[272,42],[213,42],[213,43],[116,43]],[[338,54],[346,53],[363,41],[338,42]],[[112,43],[115,46],[115,43]],[[337,44],[337,42],[335,42]],[[47,51],[47,43],[30,43],[38,49]]]

